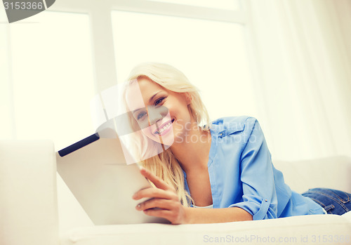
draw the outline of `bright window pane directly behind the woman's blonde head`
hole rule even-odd
[[[140,62],[166,62],[200,89],[211,119],[256,115],[242,25],[123,11],[112,24],[119,82]]]

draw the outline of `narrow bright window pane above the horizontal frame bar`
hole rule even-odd
[[[206,8],[220,8],[228,11],[239,10],[240,5],[238,0],[147,0],[147,1],[161,1],[164,3],[184,4],[190,6],[206,7]]]

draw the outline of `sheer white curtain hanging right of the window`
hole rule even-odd
[[[258,117],[272,157],[351,156],[351,1],[246,3]]]

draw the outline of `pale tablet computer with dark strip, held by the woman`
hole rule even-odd
[[[112,128],[56,152],[56,161],[62,180],[95,225],[169,223],[135,209],[146,199],[134,200],[133,194],[151,184],[138,164],[126,164]]]

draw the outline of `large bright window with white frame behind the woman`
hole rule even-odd
[[[56,1],[49,11],[0,25],[0,138],[47,138],[60,150],[91,135],[94,95],[150,60],[182,70],[200,88],[212,119],[256,114],[239,5]],[[250,91],[245,98],[243,90]]]

